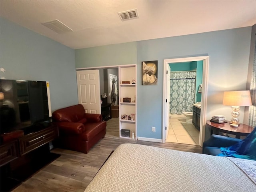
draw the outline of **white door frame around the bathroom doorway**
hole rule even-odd
[[[208,89],[208,70],[209,70],[209,56],[197,56],[197,57],[185,57],[185,58],[174,58],[164,59],[164,81],[163,81],[163,118],[162,118],[162,143],[165,142],[165,127],[166,127],[166,82],[167,82],[167,65],[169,63],[178,62],[192,62],[192,61],[203,61],[203,78],[202,78],[202,107],[200,115],[200,133],[199,133],[199,145],[202,147],[205,136],[205,124],[206,124],[206,104],[207,104],[207,89]],[[169,113],[169,111],[168,111]]]

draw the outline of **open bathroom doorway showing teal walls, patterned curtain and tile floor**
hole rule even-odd
[[[170,63],[170,121],[166,142],[199,145],[199,130],[192,124],[193,104],[202,84],[202,61]]]

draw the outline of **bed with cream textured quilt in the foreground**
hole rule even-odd
[[[256,161],[121,144],[84,192],[252,192]]]

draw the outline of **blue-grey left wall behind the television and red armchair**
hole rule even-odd
[[[0,66],[6,79],[49,81],[53,111],[78,103],[75,51],[2,17]]]

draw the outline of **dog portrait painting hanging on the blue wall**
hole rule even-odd
[[[142,85],[157,85],[157,61],[143,61]]]

